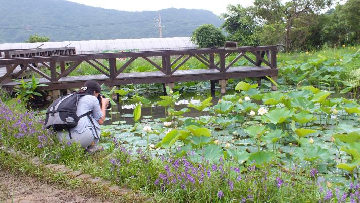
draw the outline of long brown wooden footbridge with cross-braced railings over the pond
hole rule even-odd
[[[48,85],[41,87],[46,90],[79,88],[87,80],[95,80],[108,86],[163,83],[170,87],[174,82],[210,80],[212,86],[215,81],[219,81],[222,93],[225,93],[226,80],[230,78],[270,76],[276,81],[276,52],[276,46],[254,46],[3,58],[0,59],[0,66],[6,65],[6,73],[0,78],[0,82],[3,88],[12,89],[18,83],[9,78],[17,78],[25,69],[30,69],[40,76],[40,83]],[[230,55],[235,58],[227,62]],[[185,62],[192,57],[206,65],[207,69],[183,70]],[[146,60],[159,71],[125,73],[124,70],[137,58]],[[253,66],[234,66],[240,58],[245,58]],[[69,76],[82,63],[88,63],[102,74]],[[15,72],[19,65],[21,69]],[[276,86],[272,85],[272,89],[276,90]]]

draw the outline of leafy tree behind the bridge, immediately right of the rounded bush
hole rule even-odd
[[[237,40],[241,46],[258,45],[259,40],[254,35],[256,24],[251,10],[241,5],[229,5],[228,13],[220,15],[225,22],[221,28],[229,33],[228,40]]]

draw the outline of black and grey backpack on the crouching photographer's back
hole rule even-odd
[[[80,97],[90,95],[87,93],[71,93],[63,97],[59,97],[51,104],[45,116],[45,126],[50,129],[53,128],[55,131],[67,130],[69,132],[70,139],[71,137],[70,129],[78,125],[80,118],[87,116],[90,119],[91,124],[94,126],[94,130],[97,138],[98,134],[94,122],[92,121],[90,114],[92,111],[89,111],[83,115],[77,116],[76,110],[78,108],[78,101]]]

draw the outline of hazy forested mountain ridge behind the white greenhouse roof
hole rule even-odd
[[[30,35],[50,41],[158,37],[154,19],[161,13],[163,37],[186,37],[201,24],[222,20],[207,10],[163,9],[128,12],[65,0],[1,0],[0,43],[24,42]]]

